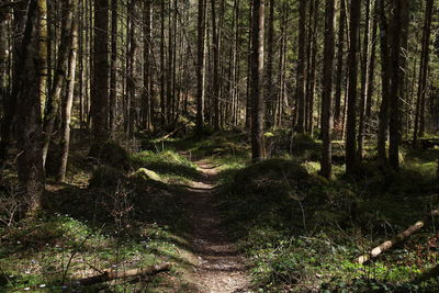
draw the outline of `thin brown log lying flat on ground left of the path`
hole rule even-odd
[[[172,264],[169,262],[164,262],[155,266],[150,266],[143,269],[132,269],[127,271],[114,272],[114,271],[104,271],[101,274],[85,278],[81,280],[77,280],[77,282],[81,285],[92,285],[102,282],[113,281],[117,279],[126,279],[126,278],[138,278],[143,275],[153,275],[159,272],[169,271]]]

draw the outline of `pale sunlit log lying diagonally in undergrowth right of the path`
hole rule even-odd
[[[396,235],[396,237],[393,238],[392,240],[384,241],[381,245],[373,248],[369,253],[365,253],[365,255],[362,255],[361,257],[359,257],[357,259],[357,262],[360,264],[363,264],[363,263],[368,262],[369,260],[371,260],[372,258],[375,258],[379,255],[381,255],[382,252],[391,249],[396,244],[404,241],[405,239],[410,237],[412,234],[414,234],[415,232],[417,232],[418,229],[424,227],[425,223],[428,219],[430,219],[432,216],[437,216],[437,215],[439,215],[439,210],[431,211],[430,213],[428,213],[426,218],[424,218],[423,221],[416,222],[414,225],[409,226],[406,230]]]

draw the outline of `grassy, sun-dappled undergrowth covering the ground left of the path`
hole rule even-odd
[[[198,259],[184,237],[185,190],[178,184],[200,178],[196,167],[171,150],[134,154],[124,169],[83,162],[72,159],[68,184],[48,184],[43,214],[0,226],[0,292],[190,290],[185,272]],[[138,168],[154,170],[160,180],[134,176]],[[98,271],[165,261],[173,263],[170,275],[75,285]]]

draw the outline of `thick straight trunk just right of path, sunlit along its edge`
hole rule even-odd
[[[251,21],[251,157],[263,159],[263,25],[264,0],[254,0]]]

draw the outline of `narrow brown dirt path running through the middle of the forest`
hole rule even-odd
[[[191,243],[199,264],[191,275],[199,292],[251,292],[244,258],[221,226],[222,215],[213,194],[217,181],[215,166],[198,161],[202,182],[194,182],[187,199],[192,225]]]

